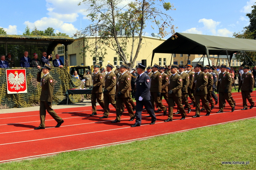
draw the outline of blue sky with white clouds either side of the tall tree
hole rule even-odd
[[[26,25],[30,31],[48,27],[55,33],[70,36],[90,24],[86,19],[86,6],[77,4],[81,0],[9,0],[2,1],[0,27],[7,34],[23,34]],[[168,1],[166,1],[168,2]],[[251,13],[251,6],[256,0],[172,0],[176,10],[166,13],[174,19],[175,32],[195,33],[214,36],[232,37],[234,32],[244,30],[249,24],[246,13]],[[150,24],[148,24],[150,25]],[[147,27],[145,35],[155,33]],[[165,37],[168,39],[171,35]]]

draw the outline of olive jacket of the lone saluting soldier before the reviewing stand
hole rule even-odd
[[[37,73],[37,81],[42,84],[42,91],[40,95],[40,101],[52,102],[53,100],[53,78],[48,73],[41,78],[41,72]]]

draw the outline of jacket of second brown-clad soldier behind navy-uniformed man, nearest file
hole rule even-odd
[[[202,71],[199,73],[199,75],[195,73],[194,84],[193,84],[193,89],[195,89],[194,95],[207,94],[208,93],[206,88],[207,84],[208,84],[208,79],[207,79],[206,73]],[[200,91],[196,92],[198,88],[200,89]]]

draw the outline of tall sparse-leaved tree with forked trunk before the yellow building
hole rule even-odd
[[[174,25],[172,25],[173,19],[162,12],[159,4],[162,4],[165,10],[175,9],[172,4],[162,0],[136,0],[127,5],[123,5],[122,0],[83,0],[78,5],[81,3],[88,6],[86,11],[89,13],[87,16],[90,21],[97,22],[86,27],[82,34],[90,36],[92,30],[98,33],[96,43],[98,41],[99,45],[116,51],[125,64],[128,64],[127,58],[129,58],[126,52],[128,38],[132,38],[131,67],[134,66],[139,54],[143,29],[148,22],[157,25],[158,34],[162,37],[169,34],[166,31],[168,27],[171,33],[175,33]],[[134,49],[136,53],[133,56]]]

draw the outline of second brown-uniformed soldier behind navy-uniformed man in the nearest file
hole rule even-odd
[[[200,117],[200,99],[202,101],[202,105],[204,106],[204,109],[206,110],[206,116],[209,116],[211,113],[211,109],[209,107],[209,103],[206,99],[207,95],[207,84],[208,79],[206,76],[206,73],[202,72],[203,66],[202,64],[198,63],[195,66],[195,77],[194,77],[194,84],[193,88],[194,90],[194,97],[195,97],[195,116],[193,118]]]

